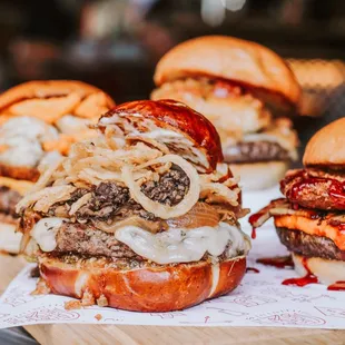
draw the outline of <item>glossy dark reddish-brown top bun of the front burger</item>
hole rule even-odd
[[[99,127],[118,125],[125,136],[146,136],[189,158],[205,171],[223,161],[220,139],[213,124],[199,112],[174,100],[139,100],[115,107]],[[188,156],[187,156],[188,155]]]

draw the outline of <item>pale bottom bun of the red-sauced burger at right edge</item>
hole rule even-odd
[[[318,282],[325,285],[345,280],[345,262],[327,260],[319,257],[305,258],[300,255],[293,254],[295,270],[298,275],[305,276],[307,269],[303,262],[306,263],[309,272],[318,278]]]

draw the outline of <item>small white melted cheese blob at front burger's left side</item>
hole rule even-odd
[[[42,218],[31,230],[31,237],[37,241],[42,252],[52,252],[57,247],[56,236],[63,218]]]

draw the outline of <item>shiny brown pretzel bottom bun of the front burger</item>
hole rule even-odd
[[[246,272],[246,258],[218,265],[207,262],[175,266],[119,269],[101,259],[66,263],[56,257],[39,259],[41,279],[53,294],[96,300],[134,312],[171,312],[231,292]]]

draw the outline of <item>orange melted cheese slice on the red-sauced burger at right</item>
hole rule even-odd
[[[275,216],[275,226],[290,230],[300,230],[308,235],[323,236],[332,239],[335,245],[345,250],[345,231],[327,223],[327,219],[312,219],[298,215]]]

